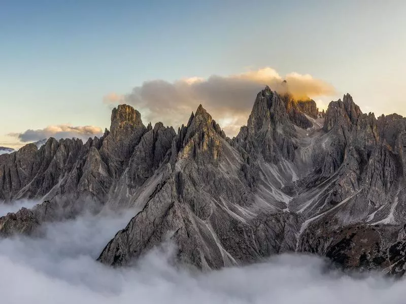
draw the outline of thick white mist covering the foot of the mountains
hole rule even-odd
[[[377,273],[343,274],[308,255],[280,255],[208,273],[174,267],[172,244],[152,250],[131,268],[95,261],[136,212],[83,214],[46,224],[43,238],[1,240],[2,302],[381,304],[404,303],[406,297],[404,281]]]

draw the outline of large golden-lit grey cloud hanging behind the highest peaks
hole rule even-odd
[[[315,98],[335,93],[330,84],[309,74],[292,72],[281,77],[276,70],[266,67],[226,77],[193,77],[174,83],[147,81],[133,88],[129,94],[110,93],[103,101],[107,104],[131,104],[143,113],[144,120],[162,121],[174,127],[185,124],[190,113],[201,103],[226,134],[233,136],[247,123],[256,94],[265,85],[280,93],[289,91],[296,98]]]

